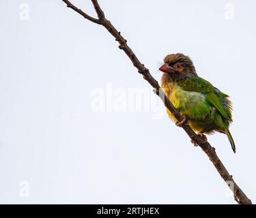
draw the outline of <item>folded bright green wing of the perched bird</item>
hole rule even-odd
[[[221,99],[216,95],[216,89],[210,82],[199,76],[189,76],[178,81],[177,84],[185,91],[194,91],[205,94],[206,101],[210,105],[214,106],[214,108],[216,108],[224,118],[229,118],[229,115],[221,103]]]

